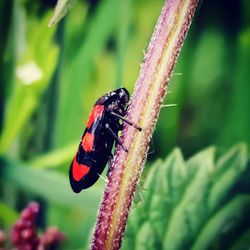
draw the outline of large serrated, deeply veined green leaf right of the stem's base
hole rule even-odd
[[[246,145],[239,144],[216,162],[214,147],[186,162],[179,149],[166,160],[158,160],[145,181],[144,203],[134,205],[130,213],[123,249],[179,250],[194,244],[200,247],[195,249],[203,249],[205,240],[206,247],[218,238],[221,242],[229,242],[225,237],[236,240],[238,235],[229,236],[232,228],[228,234],[220,234],[219,229],[241,225],[249,209],[249,195],[231,194],[250,168],[247,157]],[[235,223],[224,223],[234,215]]]

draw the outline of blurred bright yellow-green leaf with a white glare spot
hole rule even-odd
[[[27,23],[24,18],[18,21],[17,25],[20,27],[22,24],[27,25],[25,39],[22,41],[25,48],[19,52],[17,58],[15,83],[4,112],[0,154],[8,151],[37,108],[54,72],[58,55],[58,47],[53,41],[55,30],[48,29],[45,25],[48,15],[40,20],[31,16]]]

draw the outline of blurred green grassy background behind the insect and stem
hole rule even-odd
[[[89,241],[105,186],[76,195],[68,169],[97,98],[133,91],[163,0],[78,0],[48,28],[56,0],[0,1],[0,228],[31,201],[63,249]],[[147,165],[180,147],[250,143],[250,2],[204,0],[170,81]],[[147,168],[145,171],[145,176]]]

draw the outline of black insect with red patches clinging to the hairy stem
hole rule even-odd
[[[114,142],[128,151],[118,137],[123,122],[141,131],[141,128],[124,117],[128,102],[129,92],[125,88],[119,88],[103,95],[95,103],[69,170],[74,192],[79,193],[97,181],[107,162],[113,157]]]

